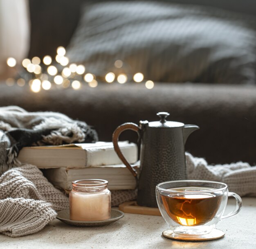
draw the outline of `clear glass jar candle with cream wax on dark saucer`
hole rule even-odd
[[[76,180],[70,192],[70,220],[99,221],[111,217],[111,193],[108,181]]]

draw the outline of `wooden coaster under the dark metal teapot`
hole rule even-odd
[[[136,201],[124,202],[120,204],[119,210],[123,211],[124,213],[161,216],[161,213],[157,207],[141,207],[137,205]]]

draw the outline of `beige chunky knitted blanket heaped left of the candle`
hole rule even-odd
[[[56,211],[68,207],[68,198],[33,165],[9,169],[0,177],[0,232],[5,235],[40,231]]]

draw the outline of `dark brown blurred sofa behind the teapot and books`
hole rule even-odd
[[[82,2],[75,0],[70,4],[66,0],[30,0],[32,25],[29,58],[54,54],[57,46],[68,44],[78,23]],[[208,2],[210,5],[215,4],[223,8],[227,8],[229,2],[231,10],[239,9],[242,12],[255,14],[254,1],[246,1],[252,4],[249,6],[242,4],[242,1],[194,2],[197,4]],[[69,7],[71,5],[72,7]],[[47,20],[44,19],[42,22],[40,18],[47,9],[48,21],[53,23],[52,26],[49,26]],[[63,25],[64,22],[67,25]],[[40,29],[37,26],[39,24],[50,28]],[[35,94],[29,89],[26,91],[18,86],[8,87],[0,84],[0,106],[5,105],[18,105],[27,111],[65,113],[71,118],[84,120],[93,125],[99,133],[99,139],[106,141],[111,140],[114,129],[124,122],[157,120],[158,111],[167,111],[170,113],[169,120],[200,127],[200,130],[193,133],[186,143],[186,150],[194,156],[204,157],[209,163],[242,160],[252,165],[256,164],[256,87],[254,86],[156,83],[155,87],[149,90],[139,84],[116,83],[99,85],[95,89],[89,87],[79,91],[53,89]],[[137,136],[127,131],[121,135],[121,139],[136,141]]]

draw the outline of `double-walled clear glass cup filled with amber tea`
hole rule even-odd
[[[236,198],[236,209],[223,215],[229,196]],[[236,215],[242,199],[228,191],[222,182],[179,180],[156,186],[157,205],[173,233],[203,235],[210,233],[220,220]]]

